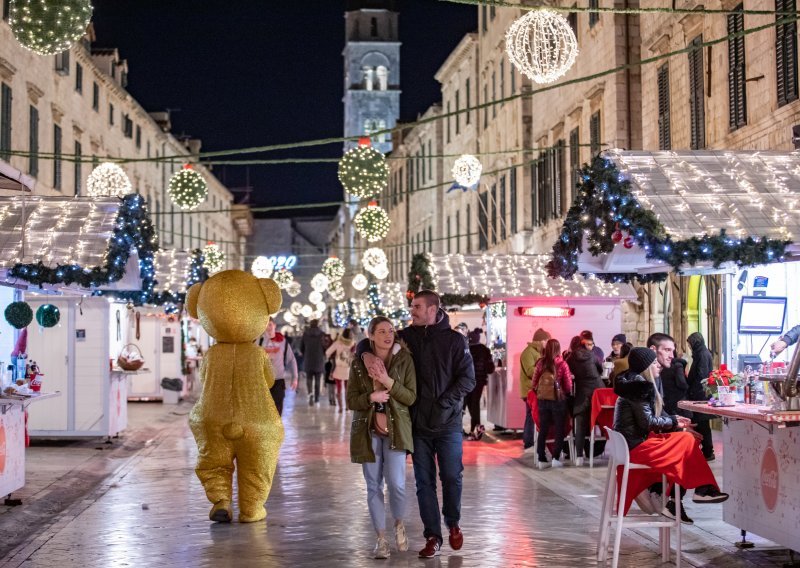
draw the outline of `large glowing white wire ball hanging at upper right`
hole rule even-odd
[[[578,40],[561,14],[531,10],[506,31],[506,54],[531,81],[552,83],[575,63]]]

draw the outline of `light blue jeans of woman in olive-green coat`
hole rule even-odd
[[[362,464],[364,479],[367,482],[367,505],[372,526],[376,533],[386,530],[386,504],[383,500],[383,480],[389,490],[389,507],[392,516],[402,519],[406,514],[406,452],[392,450],[388,437],[372,437],[373,463]]]

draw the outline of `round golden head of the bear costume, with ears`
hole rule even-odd
[[[219,343],[247,343],[264,333],[281,307],[274,280],[242,270],[225,270],[186,293],[186,310]]]

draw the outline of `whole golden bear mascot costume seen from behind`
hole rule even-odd
[[[283,442],[283,423],[269,393],[275,382],[267,354],[254,343],[281,307],[274,281],[225,270],[193,285],[186,294],[189,315],[216,340],[200,367],[203,392],[189,424],[197,441],[195,472],[211,507],[209,518],[233,518],[233,469],[239,482],[239,522],[267,516]]]

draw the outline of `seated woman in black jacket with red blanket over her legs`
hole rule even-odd
[[[695,503],[721,503],[728,495],[720,492],[690,420],[664,412],[664,401],[653,379],[656,365],[655,351],[636,347],[628,355],[628,371],[614,383],[614,392],[619,395],[614,409],[614,430],[625,436],[631,463],[651,468],[631,470],[624,511],[628,512],[634,497],[650,485],[660,483],[662,474],[670,484],[680,484],[682,490],[694,489]],[[681,520],[691,524],[683,507],[681,513]],[[675,517],[672,499],[661,514]]]

